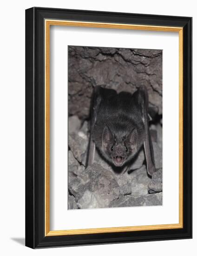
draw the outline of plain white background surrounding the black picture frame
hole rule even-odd
[[[18,0],[0,13],[0,253],[1,255],[196,255],[197,135],[193,135],[193,239],[33,250],[25,242],[25,9],[33,6],[193,17],[193,95],[197,95],[197,12],[193,0]],[[197,101],[193,130],[197,130]]]

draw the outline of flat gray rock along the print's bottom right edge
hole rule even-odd
[[[117,200],[110,203],[109,207],[131,207],[162,205],[162,192],[151,195],[120,195]]]

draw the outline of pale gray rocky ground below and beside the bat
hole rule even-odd
[[[151,127],[157,168],[151,178],[143,148],[128,172],[112,169],[98,152],[94,164],[85,169],[88,122],[69,117],[68,209],[162,205],[162,149],[157,139],[161,129],[160,125]]]

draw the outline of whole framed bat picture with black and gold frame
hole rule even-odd
[[[26,246],[192,237],[192,18],[26,10]]]

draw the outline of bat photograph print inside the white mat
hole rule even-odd
[[[68,46],[68,209],[163,204],[162,57]]]

